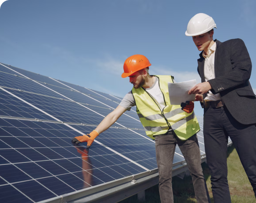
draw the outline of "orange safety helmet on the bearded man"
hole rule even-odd
[[[133,55],[124,61],[122,78],[149,66],[151,66],[151,63],[148,58],[140,54]]]

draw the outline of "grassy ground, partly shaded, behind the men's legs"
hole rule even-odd
[[[227,167],[227,179],[232,203],[256,203],[253,188],[244,172],[237,151],[233,145],[228,147]],[[209,168],[206,163],[202,163],[202,168],[211,197],[211,203],[214,203],[211,192],[211,175]],[[172,186],[174,203],[196,203],[191,176],[186,176],[183,180],[179,177],[173,177]],[[137,195],[134,195],[120,203],[161,203],[158,185],[147,189],[145,194],[146,201],[138,201]]]

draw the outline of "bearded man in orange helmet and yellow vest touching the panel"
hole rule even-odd
[[[172,163],[178,144],[192,176],[197,202],[211,203],[201,168],[196,136],[200,128],[193,111],[194,102],[171,104],[167,84],[174,82],[173,76],[150,75],[149,66],[150,61],[143,55],[127,58],[123,65],[122,77],[130,77],[130,83],[134,86],[132,91],[125,95],[119,106],[108,114],[94,131],[75,137],[73,142],[87,142],[89,148],[101,132],[113,125],[125,111],[130,111],[136,106],[146,134],[155,140],[161,202],[173,203]]]

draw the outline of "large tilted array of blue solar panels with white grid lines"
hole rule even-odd
[[[0,73],[1,203],[47,202],[157,168],[154,141],[135,108],[90,149],[72,143],[95,129],[121,98],[6,64]],[[202,132],[198,141],[204,155]],[[177,147],[174,166],[183,162]]]

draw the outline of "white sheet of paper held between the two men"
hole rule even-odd
[[[182,102],[195,101],[196,95],[189,95],[188,91],[196,85],[196,80],[181,83],[168,83],[170,102],[173,105],[181,105]]]

